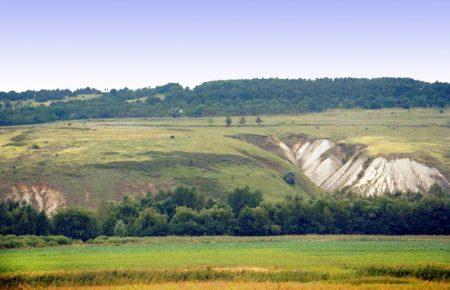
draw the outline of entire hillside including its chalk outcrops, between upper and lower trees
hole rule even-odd
[[[364,158],[363,173],[371,165],[366,160],[409,160],[408,164],[424,169],[419,177],[425,181],[383,187],[392,174],[417,173],[414,166],[406,171],[391,166],[391,171],[382,172],[383,178],[377,178],[379,187],[369,186],[370,176],[354,173],[361,186],[352,191],[365,195],[383,194],[386,189],[425,192],[434,182],[448,185],[449,119],[448,110],[384,109],[262,116],[260,126],[254,116],[247,116],[245,124],[233,118],[230,127],[223,117],[0,127],[0,193],[29,199],[47,211],[66,205],[96,207],[127,193],[143,195],[177,185],[195,186],[219,200],[225,192],[246,185],[261,190],[269,201],[292,193],[308,197],[347,188],[348,179],[342,186],[323,184],[357,152]],[[313,167],[304,167],[306,155],[299,155],[297,163],[267,140],[282,141],[297,151],[306,141],[327,140],[331,146],[308,159]],[[325,175],[318,169],[323,161],[332,165]],[[295,185],[283,180],[287,171],[295,173]]]

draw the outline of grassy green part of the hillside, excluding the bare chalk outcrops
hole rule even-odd
[[[335,110],[320,114],[263,116],[262,126],[224,126],[224,118],[112,119],[0,127],[0,193],[16,183],[48,184],[69,204],[95,206],[126,192],[177,184],[222,196],[236,186],[261,189],[269,200],[316,193],[306,180],[288,186],[285,160],[235,134],[304,133],[364,143],[372,155],[408,155],[450,176],[450,111],[435,109]],[[234,123],[237,123],[237,117]],[[174,136],[174,138],[171,138]],[[31,149],[32,144],[41,149]],[[258,160],[249,157],[258,156]],[[266,161],[262,162],[261,158]],[[13,167],[15,166],[15,169]]]

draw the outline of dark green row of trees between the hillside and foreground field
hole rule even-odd
[[[178,187],[97,212],[65,209],[48,218],[17,202],[0,205],[0,234],[64,235],[88,240],[106,236],[286,235],[286,234],[450,234],[450,199],[442,190],[420,194],[303,199],[289,196],[267,203],[259,191],[237,188],[223,202]]]

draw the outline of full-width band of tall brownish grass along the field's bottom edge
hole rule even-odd
[[[374,276],[374,277],[367,277]],[[397,279],[393,279],[397,278]],[[369,267],[359,271],[354,278],[342,278],[334,282],[349,284],[403,283],[402,279],[418,278],[427,281],[450,280],[450,269],[437,266],[418,268]],[[9,288],[49,287],[49,286],[107,286],[136,283],[167,283],[187,281],[228,281],[228,282],[312,282],[330,281],[325,272],[307,271],[251,271],[251,270],[151,270],[151,271],[80,271],[50,273],[11,273],[0,275],[0,285]]]

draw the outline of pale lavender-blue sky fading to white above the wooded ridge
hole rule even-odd
[[[450,82],[450,1],[0,0],[0,91],[382,76]]]

